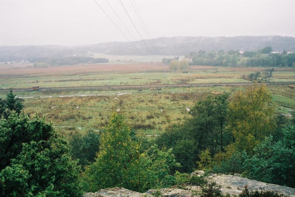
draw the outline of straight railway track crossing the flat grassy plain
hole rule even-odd
[[[262,82],[265,85],[289,85],[295,84],[295,81],[283,81],[283,82]],[[140,89],[140,88],[162,88],[162,87],[196,87],[196,86],[251,86],[252,82],[241,83],[205,83],[205,84],[144,84],[144,85],[119,85],[119,86],[75,86],[75,87],[48,87],[39,88],[39,91],[50,90],[107,90],[107,89]],[[30,91],[31,89],[19,88],[12,89],[14,92]],[[0,92],[8,92],[9,89],[0,89]]]

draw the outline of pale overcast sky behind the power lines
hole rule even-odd
[[[106,0],[96,1],[133,41]],[[130,0],[121,1],[141,36],[146,39]],[[152,38],[240,35],[295,37],[294,0],[134,1]],[[119,0],[107,2],[135,39],[140,40]],[[0,46],[127,41],[94,0],[0,0],[0,13]]]

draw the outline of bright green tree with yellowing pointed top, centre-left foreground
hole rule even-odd
[[[170,169],[179,163],[171,150],[163,152],[152,147],[142,152],[140,142],[132,140],[131,134],[122,114],[112,113],[101,134],[96,161],[85,170],[86,191],[118,186],[142,192],[175,181]]]

